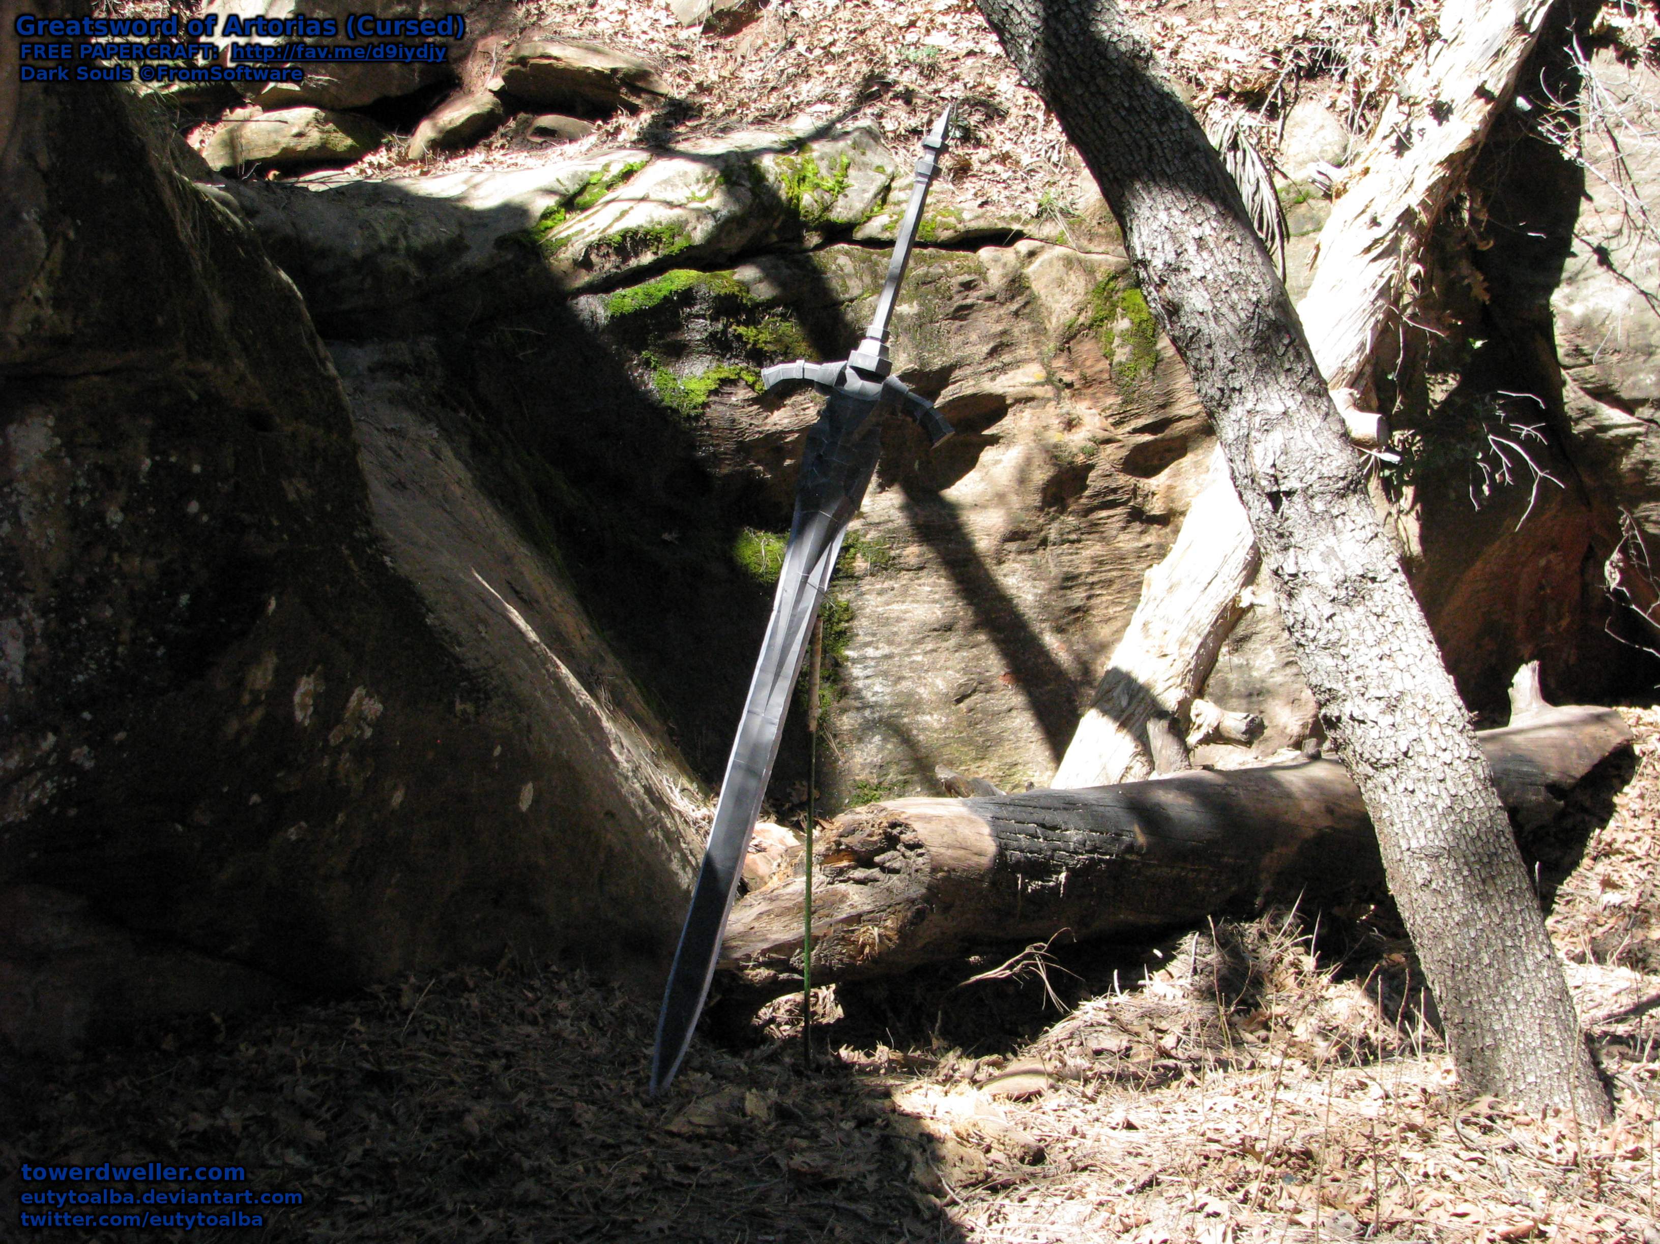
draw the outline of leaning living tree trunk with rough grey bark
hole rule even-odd
[[[1210,413],[1464,1091],[1605,1120],[1504,804],[1237,187],[1111,0],[981,8],[1096,176]],[[1426,126],[1452,106],[1431,104]]]

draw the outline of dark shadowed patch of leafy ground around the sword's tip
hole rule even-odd
[[[20,1161],[131,1154],[300,1193],[266,1211],[271,1241],[963,1239],[923,1191],[930,1141],[895,1126],[880,1076],[835,1060],[803,1073],[779,1042],[699,1042],[652,1100],[652,1023],[581,969],[505,967],[12,1065],[0,1196],[17,1204]]]

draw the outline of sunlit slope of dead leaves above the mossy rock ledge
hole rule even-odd
[[[199,0],[103,0],[111,12],[134,15],[193,3]],[[1351,129],[1365,129],[1399,68],[1433,35],[1441,0],[1127,0],[1122,8],[1195,111],[1207,121],[1243,114],[1272,158],[1285,114],[1305,91],[1328,98]],[[1076,206],[1077,156],[1021,85],[974,0],[790,0],[727,36],[682,27],[661,0],[521,0],[516,17],[525,30],[642,56],[667,83],[667,100],[619,111],[588,138],[556,148],[526,141],[523,126],[510,123],[466,151],[410,161],[402,134],[350,174],[528,168],[802,118],[873,126],[895,151],[913,151],[956,101],[941,174],[956,201],[1033,217]],[[206,133],[193,141],[201,146]]]

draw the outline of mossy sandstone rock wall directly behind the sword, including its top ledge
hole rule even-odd
[[[465,393],[531,451],[530,508],[715,778],[817,415],[812,395],[779,405],[754,383],[857,342],[901,168],[870,131],[775,131],[236,194],[325,335],[430,340],[427,388]],[[928,453],[888,430],[843,559],[840,803],[935,790],[936,765],[1046,781],[1204,463],[1202,415],[1116,231],[1097,214],[1023,232],[948,189],[923,227],[895,363],[958,436]],[[349,390],[364,357],[335,348]]]

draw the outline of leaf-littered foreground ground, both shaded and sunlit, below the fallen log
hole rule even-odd
[[[1655,1244],[1660,710],[1627,720],[1635,776],[1550,917],[1604,1130],[1459,1100],[1384,914],[1272,912],[822,990],[812,1071],[795,1000],[727,1002],[662,1100],[652,1000],[573,969],[134,1033],[0,1067],[0,1203],[20,1161],[158,1159],[304,1193],[272,1241]]]

